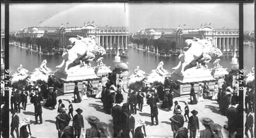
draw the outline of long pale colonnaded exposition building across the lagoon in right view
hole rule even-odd
[[[215,29],[209,25],[205,25],[200,29],[185,29],[181,27],[177,29],[142,29],[136,32],[133,37],[135,39],[161,38],[171,42],[176,41],[177,49],[185,46],[186,39],[197,37],[200,39],[209,39],[213,45],[223,52],[233,51],[234,48],[239,49],[239,29]]]

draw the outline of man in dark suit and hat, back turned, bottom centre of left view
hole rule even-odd
[[[74,116],[73,119],[73,127],[75,129],[75,137],[80,137],[81,129],[84,131],[84,123],[83,123],[83,117],[81,115],[82,109],[78,108],[76,109],[77,114]]]

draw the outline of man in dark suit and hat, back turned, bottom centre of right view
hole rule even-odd
[[[195,138],[197,135],[197,129],[199,132],[199,120],[197,117],[198,111],[193,110],[191,111],[191,113],[193,114],[193,116],[189,117],[188,119],[188,125],[187,125],[187,129],[190,133],[190,138]]]

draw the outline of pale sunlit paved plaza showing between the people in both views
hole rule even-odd
[[[11,93],[11,91],[10,91]],[[127,94],[124,93],[124,99],[127,98]],[[68,100],[73,100],[73,95],[66,95],[66,96],[58,96],[57,100],[62,99],[63,104],[67,108],[69,103]],[[126,100],[125,100],[126,101]],[[124,102],[125,102],[124,101]],[[184,114],[184,101],[189,102],[190,99],[188,96],[186,97],[177,97],[174,98],[174,101],[178,101],[181,109],[183,110]],[[45,104],[46,101],[42,102],[42,105]],[[144,101],[146,103],[146,101]],[[143,105],[142,112],[137,110],[137,114],[134,114],[135,120],[144,119],[146,125],[146,135],[147,137],[173,137],[173,131],[170,127],[169,118],[173,116],[173,110],[169,111],[167,109],[160,108],[161,103],[158,103],[158,119],[159,125],[158,126],[150,126],[151,125],[151,118],[150,118],[150,106],[147,104]],[[55,106],[55,108],[58,105]],[[221,112],[218,111],[219,104],[217,101],[211,101],[205,99],[203,102],[199,102],[196,105],[188,105],[189,110],[197,110],[198,117],[208,117],[214,120],[215,123],[220,124],[221,126],[227,125],[227,118],[221,115]],[[112,124],[112,117],[110,114],[104,113],[102,109],[102,102],[100,99],[95,98],[88,98],[88,100],[83,100],[81,103],[73,103],[74,110],[77,108],[81,108],[83,112],[81,113],[83,117],[92,115],[99,118],[100,121],[108,124],[108,131],[109,134],[112,136],[113,134],[113,124]],[[173,109],[174,107],[172,107]],[[67,111],[68,113],[68,111]],[[76,114],[76,111],[73,112]],[[31,133],[32,137],[58,137],[58,133],[55,126],[55,117],[57,116],[57,109],[52,110],[51,108],[46,108],[42,106],[42,124],[35,125],[35,117],[34,117],[34,106],[31,103],[28,103],[26,111],[21,109],[21,112],[17,114],[19,119],[28,118],[30,117],[31,121]],[[189,113],[189,116],[192,114]],[[254,116],[254,113],[252,113]],[[244,113],[244,120],[246,114]],[[11,123],[11,113],[10,113],[10,123]],[[72,121],[70,122],[72,125]],[[185,122],[184,127],[187,127],[187,122]],[[90,128],[89,123],[84,119],[84,128]],[[203,125],[200,123],[200,130],[204,129]],[[82,133],[86,133],[86,131],[82,131]],[[228,136],[228,131],[222,128],[222,133],[224,137]]]

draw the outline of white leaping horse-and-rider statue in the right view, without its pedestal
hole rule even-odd
[[[185,41],[186,46],[181,50],[179,55],[180,62],[176,67],[173,67],[173,70],[178,70],[181,66],[181,74],[184,73],[184,68],[191,65],[198,65],[201,63],[205,67],[206,63],[213,63],[216,59],[222,56],[220,49],[213,47],[211,42],[207,39],[187,39]]]

